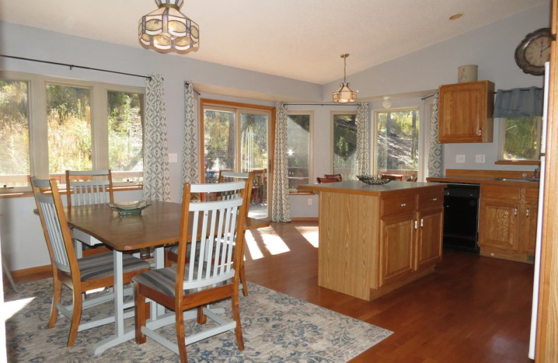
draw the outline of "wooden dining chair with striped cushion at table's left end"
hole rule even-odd
[[[54,327],[59,313],[66,316],[70,323],[67,346],[73,346],[78,331],[91,329],[114,322],[113,317],[101,318],[81,324],[82,309],[114,299],[114,293],[108,292],[99,297],[82,300],[82,294],[88,290],[107,288],[114,285],[113,255],[110,252],[99,253],[84,258],[77,258],[72,244],[72,232],[66,221],[56,180],[31,178],[33,195],[43,225],[52,266],[52,306],[48,327]],[[123,281],[129,283],[132,277],[149,270],[149,263],[132,255],[123,255]],[[61,304],[62,286],[73,291],[72,306]]]

